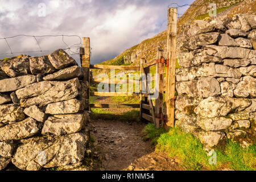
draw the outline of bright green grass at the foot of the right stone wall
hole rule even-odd
[[[152,143],[157,143],[156,150],[167,152],[171,157],[178,157],[181,160],[181,167],[185,170],[214,170],[223,166],[241,171],[256,170],[256,144],[242,148],[240,144],[228,140],[223,151],[216,150],[217,164],[210,165],[210,156],[207,156],[203,144],[192,134],[183,133],[178,127],[170,129],[168,133],[163,133],[162,130],[156,130],[152,124],[144,129],[148,139],[152,139]]]

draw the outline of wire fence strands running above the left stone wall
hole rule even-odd
[[[7,39],[13,39],[13,38],[18,38],[18,37],[31,37],[35,39],[36,44],[38,45],[39,50],[37,51],[20,51],[20,52],[13,52],[13,49],[11,48],[9,42]],[[12,54],[22,54],[22,53],[29,53],[29,52],[52,52],[55,50],[43,50],[40,46],[40,43],[37,38],[47,38],[47,37],[62,37],[62,42],[67,46],[66,48],[63,48],[63,50],[68,51],[69,55],[79,55],[79,49],[82,47],[82,39],[80,38],[79,35],[25,35],[25,34],[20,34],[20,35],[15,35],[15,36],[9,36],[6,38],[0,38],[0,40],[5,40],[7,47],[9,48],[10,52],[2,52],[0,55],[12,55]],[[64,37],[76,37],[79,39],[79,42],[76,44],[73,44],[69,46],[67,42],[65,42]],[[74,50],[75,49],[75,50]],[[90,48],[91,50],[92,48]]]

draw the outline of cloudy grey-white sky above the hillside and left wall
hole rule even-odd
[[[173,2],[183,5],[193,0],[0,0],[0,38],[20,34],[90,37],[91,63],[96,64],[166,30],[168,5]],[[18,55],[2,54],[6,52],[38,56],[49,52],[26,51],[51,51],[80,43],[76,36],[64,37],[65,43],[62,36],[36,40],[26,36],[0,39],[0,59]],[[79,46],[72,51],[77,52]],[[77,55],[72,56],[79,62]]]

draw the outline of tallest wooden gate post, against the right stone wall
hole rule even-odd
[[[176,63],[176,36],[177,36],[177,8],[168,10],[167,26],[167,55],[169,59],[168,77],[166,85],[166,107],[167,123],[169,127],[174,127],[174,109],[175,109],[175,63]]]

